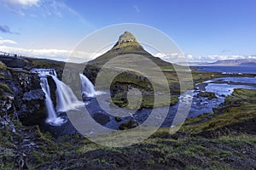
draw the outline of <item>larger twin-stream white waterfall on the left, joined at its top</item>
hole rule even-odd
[[[47,110],[48,117],[46,122],[53,126],[61,126],[63,123],[67,122],[57,113],[65,112],[69,110],[76,109],[79,105],[84,105],[79,99],[73,94],[71,88],[69,88],[64,82],[61,82],[55,70],[53,69],[33,69],[32,72],[38,73],[41,80],[41,88],[45,94],[45,106]],[[54,107],[52,99],[50,98],[49,83],[47,77],[52,77],[56,84],[56,107]]]

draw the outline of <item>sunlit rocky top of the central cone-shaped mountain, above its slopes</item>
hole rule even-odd
[[[139,42],[137,42],[136,37],[129,31],[125,31],[120,37],[118,42],[116,42],[112,49],[125,48],[127,46],[133,46],[137,48],[143,48]]]

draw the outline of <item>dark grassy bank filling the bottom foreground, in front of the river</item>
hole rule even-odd
[[[255,104],[256,90],[236,89],[213,115],[188,119],[172,135],[160,128],[123,148],[80,135],[55,139],[15,121],[15,132],[0,131],[0,169],[255,169]]]

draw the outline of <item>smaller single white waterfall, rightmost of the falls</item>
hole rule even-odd
[[[79,74],[81,79],[81,88],[82,88],[82,95],[86,97],[95,97],[96,91],[94,89],[94,85],[90,82],[90,80],[85,77],[83,74]]]

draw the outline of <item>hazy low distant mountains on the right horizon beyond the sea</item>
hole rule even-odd
[[[182,63],[180,63],[182,65]],[[242,65],[255,65],[256,66],[256,59],[224,59],[218,60],[213,63],[206,63],[206,62],[189,62],[189,65],[216,65],[216,66],[242,66]]]

